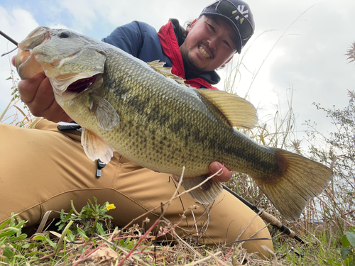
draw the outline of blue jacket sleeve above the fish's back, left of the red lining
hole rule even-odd
[[[133,55],[139,57],[143,46],[143,36],[141,28],[136,21],[116,28],[103,42],[116,46]]]

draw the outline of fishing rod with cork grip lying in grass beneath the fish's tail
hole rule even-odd
[[[250,209],[252,209],[254,212],[256,212],[256,214],[258,214],[258,216],[260,216],[264,221],[266,221],[266,223],[270,223],[271,226],[273,226],[273,228],[277,228],[278,231],[280,231],[282,233],[285,233],[290,238],[295,238],[295,240],[299,241],[302,244],[307,244],[300,237],[298,237],[295,234],[294,231],[292,231],[290,228],[288,228],[283,223],[281,223],[277,218],[275,218],[271,214],[266,213],[266,211],[259,210],[258,207],[256,207],[255,205],[251,204],[246,199],[243,199],[241,196],[239,196],[239,194],[236,194],[236,192],[234,192],[233,190],[229,189],[224,184],[222,184],[222,186],[227,192],[231,193],[233,196],[236,196],[237,199],[239,199],[241,202],[246,204],[246,206],[248,206]]]

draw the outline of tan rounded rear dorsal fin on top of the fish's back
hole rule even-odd
[[[258,114],[253,104],[246,99],[214,89],[198,89],[197,92],[216,106],[226,116],[231,126],[237,128],[256,126]]]

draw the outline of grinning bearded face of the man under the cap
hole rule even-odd
[[[202,16],[190,27],[185,42],[180,46],[182,60],[190,70],[216,70],[233,57],[236,33],[222,19]]]

